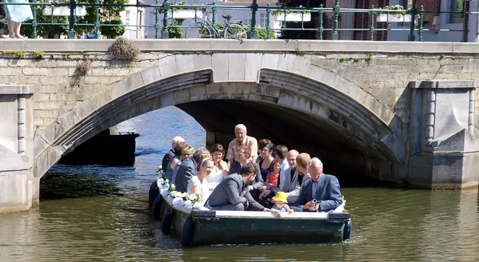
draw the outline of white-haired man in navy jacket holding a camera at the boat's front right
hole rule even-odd
[[[299,212],[328,212],[343,203],[338,178],[322,173],[322,162],[313,157],[308,164],[311,179],[306,181],[291,207]]]

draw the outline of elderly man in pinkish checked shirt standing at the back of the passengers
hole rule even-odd
[[[228,153],[226,153],[228,166],[231,163],[238,161],[238,148],[241,146],[246,146],[251,150],[251,160],[256,162],[256,157],[258,157],[258,141],[256,141],[256,138],[249,137],[246,134],[245,125],[239,124],[235,126],[236,138],[230,141],[230,144],[228,145]]]

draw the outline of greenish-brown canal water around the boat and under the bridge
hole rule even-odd
[[[148,189],[171,138],[198,148],[205,130],[168,107],[111,131],[141,134],[134,166],[52,167],[41,180],[39,207],[0,215],[1,262],[479,261],[477,189],[343,187],[353,235],[342,244],[182,249],[178,236],[164,236],[151,219]]]

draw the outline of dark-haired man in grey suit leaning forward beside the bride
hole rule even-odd
[[[258,168],[255,164],[252,162],[244,164],[239,174],[230,174],[221,180],[205,202],[205,208],[231,211],[249,209],[277,213],[277,210],[261,206],[249,193],[248,187],[255,180],[256,174],[258,174]]]

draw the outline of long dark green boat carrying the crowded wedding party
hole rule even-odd
[[[162,231],[177,233],[183,247],[343,242],[351,236],[350,213],[343,205],[333,213],[196,210],[173,206],[162,198]]]

